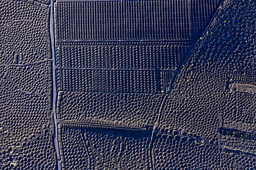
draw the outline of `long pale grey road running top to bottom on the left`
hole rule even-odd
[[[54,143],[55,151],[57,155],[57,169],[62,169],[60,162],[60,147],[58,142],[58,122],[56,115],[56,99],[57,99],[57,87],[56,87],[56,58],[55,58],[55,28],[54,28],[54,1],[51,0],[51,14],[50,14],[50,35],[51,35],[51,50],[53,54],[53,123],[55,127],[54,131]]]

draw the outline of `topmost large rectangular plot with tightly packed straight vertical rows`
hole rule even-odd
[[[57,3],[59,40],[189,40],[188,0]]]

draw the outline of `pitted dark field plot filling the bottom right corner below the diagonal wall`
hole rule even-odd
[[[253,154],[223,149],[192,136],[158,134],[152,149],[155,169],[255,169]]]

